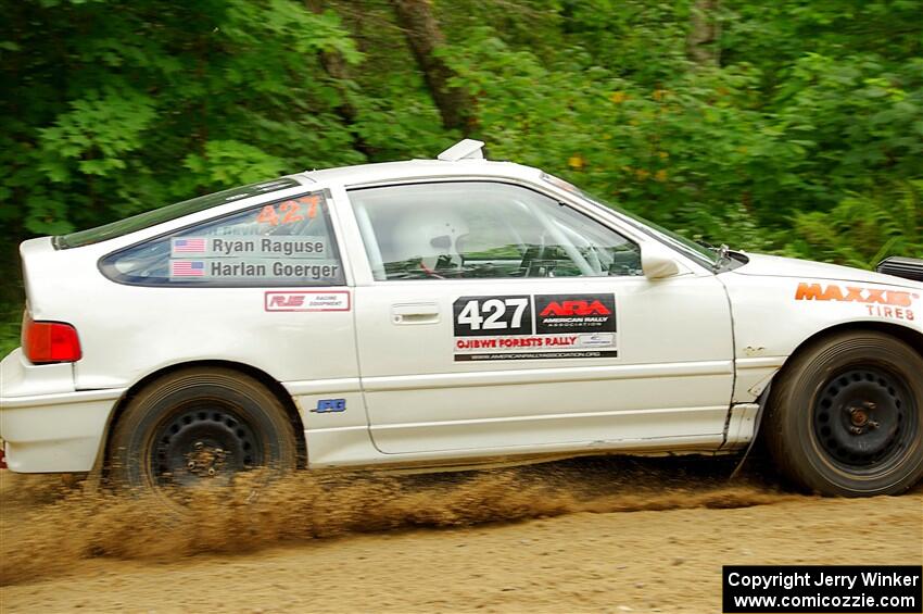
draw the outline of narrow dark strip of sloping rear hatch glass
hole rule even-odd
[[[300,184],[294,179],[281,178],[274,179],[271,181],[263,181],[262,184],[240,186],[238,188],[201,196],[191,200],[184,200],[182,202],[147,211],[132,217],[126,217],[125,220],[105,224],[104,226],[97,226],[96,228],[90,228],[88,230],[79,230],[77,233],[71,233],[69,235],[54,237],[54,247],[66,250],[69,248],[79,248],[99,243],[130,233],[137,233],[138,230],[150,228],[151,226],[156,226],[157,224],[163,224],[164,222],[169,222],[177,217],[182,217],[184,215],[199,213],[200,211],[204,211],[226,202],[241,200],[262,193],[285,190],[299,185]]]

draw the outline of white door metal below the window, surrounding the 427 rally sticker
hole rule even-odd
[[[366,404],[385,453],[704,435],[720,442],[731,319],[711,276],[419,280],[356,292]],[[617,355],[456,360],[453,303],[491,295],[614,296]],[[396,318],[413,314],[395,305],[420,304],[438,306],[425,315],[433,319]]]

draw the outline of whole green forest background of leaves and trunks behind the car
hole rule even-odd
[[[923,256],[923,1],[3,0],[16,246],[468,136],[692,238]]]

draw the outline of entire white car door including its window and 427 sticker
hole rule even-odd
[[[380,451],[721,443],[731,314],[710,272],[683,265],[652,281],[644,239],[536,186],[472,179],[349,198],[354,251],[368,256],[355,317]]]

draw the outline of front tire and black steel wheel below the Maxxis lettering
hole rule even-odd
[[[825,496],[897,494],[923,476],[923,358],[889,335],[849,331],[786,365],[766,416],[782,473]]]

